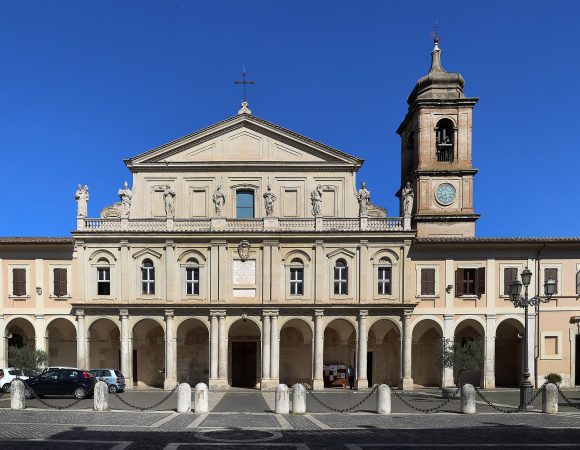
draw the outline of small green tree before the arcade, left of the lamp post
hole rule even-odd
[[[483,339],[468,339],[459,343],[452,338],[443,338],[436,353],[436,361],[441,370],[453,369],[454,382],[459,384],[463,372],[481,370],[484,355]]]

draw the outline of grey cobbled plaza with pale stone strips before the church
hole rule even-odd
[[[161,400],[163,391],[135,391],[121,397],[136,406]],[[325,391],[316,394],[324,403],[346,408],[366,393]],[[494,404],[514,407],[517,390],[486,391]],[[580,392],[567,392],[580,402]],[[436,390],[404,394],[420,408],[441,403]],[[70,404],[70,398],[45,398],[52,405]],[[393,397],[393,413],[374,413],[376,394],[350,414],[330,413],[311,395],[305,415],[274,414],[274,393],[258,391],[210,392],[208,414],[178,414],[175,394],[153,411],[130,410],[115,396],[111,411],[92,411],[92,400],[71,409],[46,408],[38,400],[27,409],[12,411],[9,398],[0,398],[0,445],[2,449],[203,449],[273,448],[350,450],[379,448],[580,448],[580,411],[564,403],[557,415],[541,414],[540,397],[534,410],[499,413],[478,402],[475,415],[459,414],[453,399],[440,412],[423,414]]]

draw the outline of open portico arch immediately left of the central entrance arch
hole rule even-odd
[[[177,381],[209,383],[209,333],[199,319],[187,319],[177,328]]]

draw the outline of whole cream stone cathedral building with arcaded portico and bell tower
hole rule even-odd
[[[119,368],[129,387],[322,389],[352,366],[360,389],[412,389],[453,384],[444,338],[479,339],[470,381],[517,386],[526,318],[509,289],[527,267],[530,296],[556,282],[528,313],[532,378],[576,384],[580,240],[475,236],[477,99],[463,87],[436,43],[398,129],[398,217],[357,183],[363,160],[245,102],[126,160],[132,183],[100,217],[79,185],[70,239],[0,238],[0,367],[33,344],[51,365]]]

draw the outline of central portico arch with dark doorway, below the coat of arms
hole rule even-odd
[[[260,328],[248,319],[240,319],[230,326],[229,383],[233,387],[258,387],[260,358]]]

